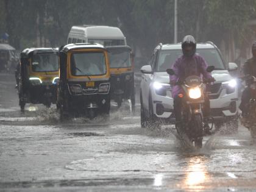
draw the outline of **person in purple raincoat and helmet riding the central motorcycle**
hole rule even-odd
[[[182,40],[182,52],[183,55],[179,57],[172,69],[174,70],[175,75],[170,76],[170,84],[172,87],[172,98],[174,98],[174,114],[176,117],[176,126],[182,127],[182,114],[180,108],[182,106],[183,89],[180,87],[180,83],[183,82],[188,76],[200,76],[209,81],[214,81],[214,78],[210,73],[206,71],[207,63],[205,60],[198,54],[196,54],[196,41],[191,35],[187,35]],[[210,101],[205,96],[205,103],[203,107],[204,117],[210,115]],[[206,119],[206,118],[205,118]],[[183,127],[182,127],[183,128]],[[208,126],[207,121],[204,121],[204,130],[205,133],[210,133],[210,127]]]

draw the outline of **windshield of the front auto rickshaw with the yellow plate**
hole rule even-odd
[[[71,55],[73,76],[97,76],[106,71],[104,52],[79,52]]]

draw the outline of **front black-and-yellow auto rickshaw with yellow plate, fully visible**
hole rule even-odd
[[[67,44],[59,49],[60,80],[57,107],[60,119],[110,112],[108,52],[101,44]]]

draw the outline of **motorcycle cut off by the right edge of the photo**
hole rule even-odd
[[[241,81],[245,81],[247,88],[250,89],[252,98],[249,100],[249,103],[246,104],[245,108],[247,109],[246,118],[241,118],[241,124],[250,130],[251,137],[256,138],[256,77],[247,75],[240,77]]]

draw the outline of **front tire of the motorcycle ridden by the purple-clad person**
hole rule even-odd
[[[194,128],[197,133],[196,138],[194,138],[194,146],[196,148],[202,148],[203,126],[200,114],[194,115]]]

